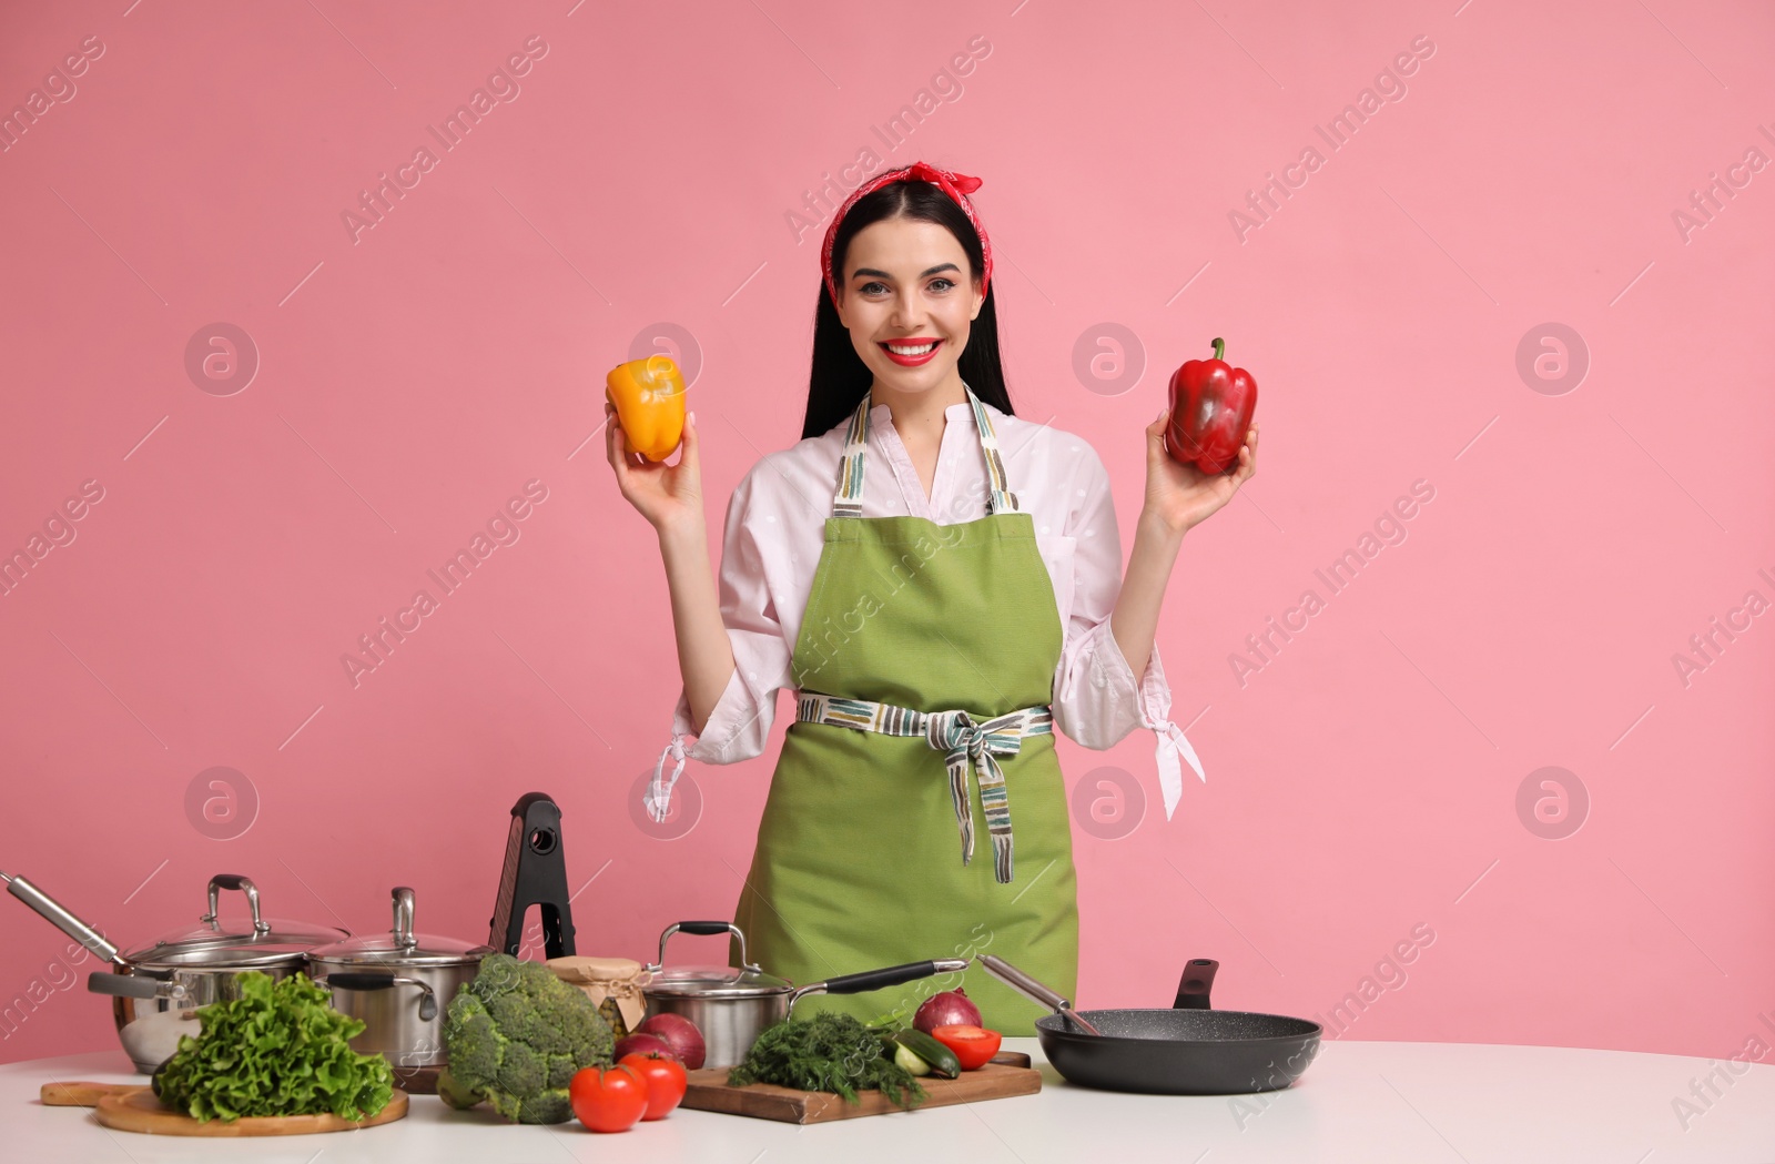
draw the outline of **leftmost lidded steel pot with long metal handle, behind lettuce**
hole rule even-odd
[[[307,969],[307,953],[314,946],[348,937],[337,926],[268,921],[259,916],[259,889],[248,878],[217,873],[209,878],[209,910],[199,917],[197,926],[167,933],[149,946],[119,951],[103,933],[23,877],[0,873],[0,878],[14,898],[112,963],[108,971],[87,976],[87,990],[114,995],[117,1038],[144,1075],[153,1074],[179,1049],[181,1034],[197,1034],[199,1006],[240,997],[234,974],[264,971],[272,978],[286,978]],[[252,914],[248,926],[218,917],[217,905],[224,889],[247,894]]]

